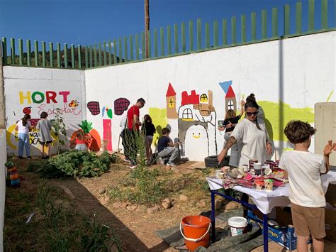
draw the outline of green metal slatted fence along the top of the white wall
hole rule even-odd
[[[321,18],[318,22],[315,20],[317,3],[315,0],[308,0],[306,4],[307,6],[304,6],[307,9],[306,13],[302,11],[303,3],[298,1],[295,5],[286,4],[282,10],[274,7],[268,12],[266,9],[258,13],[252,12],[250,16],[242,14],[240,18],[236,16],[223,18],[221,22],[215,20],[213,23],[202,23],[201,19],[197,19],[195,25],[194,21],[189,21],[188,28],[186,23],[182,22],[180,25],[174,23],[174,26],[147,31],[147,58],[145,57],[145,32],[85,46],[66,43],[54,45],[52,42],[46,45],[45,41],[35,40],[33,50],[31,41],[26,40],[25,51],[23,51],[22,39],[2,38],[2,57],[4,65],[88,69],[259,43],[296,35],[335,31],[336,24],[328,25],[327,17],[328,13],[335,16],[336,0],[334,3],[318,0]],[[330,11],[332,8],[328,8],[331,4],[334,4],[334,13]],[[291,15],[291,12],[295,15]],[[268,16],[271,18],[267,18]],[[291,26],[291,22],[295,22],[295,26]],[[319,23],[319,27],[316,23]],[[306,29],[303,29],[303,24]],[[279,31],[280,28],[281,31]]]

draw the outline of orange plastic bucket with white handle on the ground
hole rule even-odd
[[[194,251],[199,246],[208,248],[210,241],[210,226],[211,220],[208,217],[201,215],[191,215],[181,219],[179,229],[184,237],[186,248],[188,248],[189,251]]]

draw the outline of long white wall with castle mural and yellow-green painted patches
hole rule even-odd
[[[112,109],[113,150],[118,147],[122,117],[115,114],[113,102],[123,97],[130,101],[131,106],[136,99],[143,97],[147,103],[140,115],[149,113],[156,126],[172,126],[173,138],[181,138],[186,133],[185,155],[191,160],[203,160],[216,154],[216,146],[217,150],[223,146],[223,133],[217,130],[217,126],[218,119],[225,116],[225,91],[230,84],[223,85],[224,91],[219,83],[232,81],[233,99],[237,104],[251,92],[256,95],[257,102],[264,109],[267,128],[274,138],[279,158],[284,148],[291,148],[282,134],[286,123],[291,119],[301,119],[313,124],[314,104],[336,101],[335,34],[331,31],[86,70],[86,102],[99,102],[100,111],[103,106]],[[213,92],[215,112],[210,112],[210,116],[200,116],[198,110],[191,106],[195,126],[188,131],[186,121],[179,126],[177,119],[167,119],[165,109],[169,82],[176,92],[177,110],[181,106],[182,92],[191,94],[191,90],[195,90],[201,95],[208,94],[210,90]],[[181,106],[179,119],[188,106]],[[102,120],[108,119],[107,114],[92,115],[87,111],[87,119],[93,122],[103,138]]]

